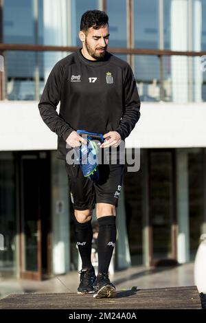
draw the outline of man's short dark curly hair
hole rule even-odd
[[[108,16],[106,12],[101,10],[88,10],[82,14],[80,30],[87,32],[90,27],[100,29],[100,27],[106,24],[108,25]]]

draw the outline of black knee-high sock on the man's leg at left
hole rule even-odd
[[[91,241],[93,238],[93,230],[91,220],[85,223],[80,223],[75,218],[75,235],[76,244],[82,259],[82,268],[91,267]]]

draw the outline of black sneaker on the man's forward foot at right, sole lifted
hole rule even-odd
[[[108,273],[99,273],[94,285],[95,294],[93,298],[115,297],[115,286],[110,282]]]

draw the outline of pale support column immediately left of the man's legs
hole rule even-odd
[[[52,152],[52,251],[53,274],[70,269],[68,181],[64,161]]]

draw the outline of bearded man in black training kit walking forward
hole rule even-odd
[[[58,157],[66,159],[71,148],[87,144],[78,129],[104,134],[100,148],[119,146],[139,119],[139,96],[128,63],[109,54],[108,16],[87,11],[80,22],[82,48],[60,60],[52,69],[38,104],[43,121],[58,135]],[[60,101],[60,113],[56,107]],[[99,165],[100,178],[84,177],[80,165],[66,164],[75,215],[75,233],[82,259],[78,293],[94,297],[115,296],[108,278],[116,241],[115,208],[122,185],[124,165]],[[96,203],[98,276],[91,265],[92,210]]]

